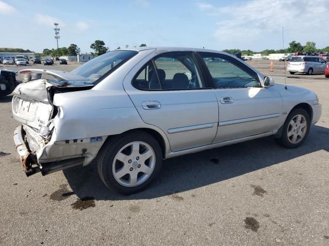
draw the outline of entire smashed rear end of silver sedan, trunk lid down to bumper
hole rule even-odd
[[[55,70],[30,69],[20,74],[28,82],[13,91],[12,113],[22,123],[14,131],[14,141],[26,175],[46,175],[90,163],[106,137],[57,139],[64,110],[53,104],[53,98],[58,93],[89,90],[92,81]],[[41,79],[42,74],[52,78]]]

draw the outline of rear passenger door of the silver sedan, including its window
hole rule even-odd
[[[142,120],[167,135],[172,151],[211,144],[217,131],[218,104],[194,54],[164,53],[142,62],[139,71],[132,70],[134,77],[128,75],[124,81]]]

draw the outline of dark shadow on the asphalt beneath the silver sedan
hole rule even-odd
[[[313,126],[304,144],[297,149],[283,148],[273,137],[266,137],[164,160],[159,177],[150,187],[128,196],[108,190],[98,176],[95,163],[63,173],[79,198],[152,199],[207,186],[316,151],[329,152],[328,138],[329,128]]]

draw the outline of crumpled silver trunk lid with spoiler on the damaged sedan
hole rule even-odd
[[[17,121],[37,130],[49,126],[56,110],[52,104],[53,94],[87,90],[94,86],[85,77],[63,71],[25,69],[20,74],[28,82],[20,84],[13,91],[12,113]],[[42,74],[54,79],[41,79]],[[31,79],[35,80],[29,81]]]

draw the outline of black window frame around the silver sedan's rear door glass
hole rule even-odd
[[[147,66],[150,61],[152,61],[152,66],[153,66],[153,69],[154,71],[156,72],[156,75],[158,77],[158,81],[159,81],[159,84],[160,84],[160,87],[162,88],[162,85],[160,83],[160,79],[159,79],[159,74],[157,73],[157,67],[156,67],[156,64],[155,64],[155,59],[163,56],[163,55],[166,55],[166,54],[172,54],[172,53],[187,53],[187,54],[190,54],[192,59],[193,59],[193,62],[194,62],[194,65],[196,67],[196,70],[197,72],[199,73],[199,76],[200,76],[200,79],[202,79],[202,82],[204,84],[205,87],[201,87],[201,88],[186,88],[186,89],[143,89],[143,88],[137,88],[134,86],[134,81],[136,80],[136,78],[138,77],[138,75],[142,72],[142,70],[145,69],[145,66]],[[134,75],[132,81],[131,81],[131,85],[136,89],[136,90],[139,90],[139,91],[192,91],[192,90],[210,90],[210,89],[213,89],[212,87],[208,87],[207,86],[207,83],[206,83],[206,80],[203,76],[203,71],[202,69],[200,68],[200,65],[199,65],[199,61],[198,61],[198,58],[197,58],[197,55],[195,55],[196,52],[194,51],[169,51],[169,52],[165,52],[165,53],[161,53],[157,56],[154,56],[152,57],[150,60],[148,60],[139,70],[138,72]]]

